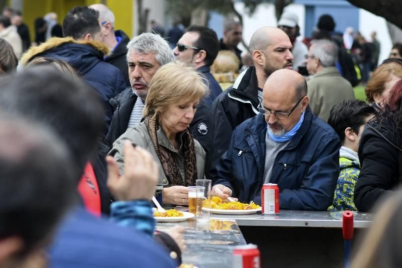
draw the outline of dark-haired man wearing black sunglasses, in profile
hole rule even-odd
[[[204,100],[208,106],[222,93],[221,86],[210,72],[218,51],[217,34],[203,26],[190,26],[173,49],[176,60],[190,64],[207,78],[210,94]]]

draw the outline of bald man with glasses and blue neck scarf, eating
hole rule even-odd
[[[306,80],[292,70],[272,73],[259,112],[233,132],[212,194],[261,204],[262,185],[275,183],[280,209],[326,210],[339,176],[341,143],[312,113]]]

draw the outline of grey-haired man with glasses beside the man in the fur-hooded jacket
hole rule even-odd
[[[105,61],[117,67],[123,74],[127,87],[130,87],[130,78],[127,68],[127,44],[130,38],[122,30],[115,31],[115,15],[103,4],[90,5],[89,8],[99,12],[100,30],[102,36],[100,41],[108,46],[111,53],[105,56]]]

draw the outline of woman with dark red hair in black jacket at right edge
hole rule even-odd
[[[377,199],[391,193],[402,176],[402,80],[384,99],[377,116],[364,128],[359,145],[361,171],[354,201],[370,210]]]

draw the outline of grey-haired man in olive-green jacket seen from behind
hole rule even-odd
[[[310,108],[314,115],[328,121],[334,105],[354,99],[353,87],[335,67],[338,46],[330,40],[315,40],[306,55],[307,70],[313,75],[309,86]]]

